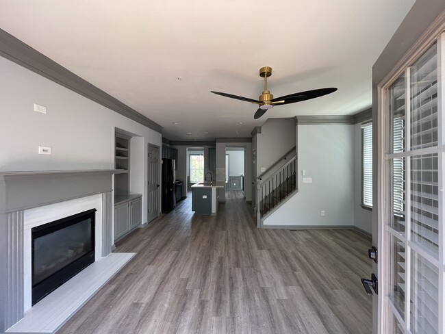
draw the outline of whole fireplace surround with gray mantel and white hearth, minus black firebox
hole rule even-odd
[[[0,172],[0,333],[53,333],[133,256],[110,254],[113,173]],[[31,229],[90,209],[97,261],[31,307]],[[51,307],[64,311],[42,318]]]

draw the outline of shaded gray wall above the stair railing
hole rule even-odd
[[[257,175],[269,168],[295,146],[295,119],[269,118],[256,136]]]

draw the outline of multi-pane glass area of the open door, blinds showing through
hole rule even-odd
[[[445,38],[444,38],[445,40]],[[386,90],[390,309],[395,333],[442,333],[437,44]]]

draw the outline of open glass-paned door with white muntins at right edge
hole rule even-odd
[[[381,88],[381,333],[444,334],[445,33]]]

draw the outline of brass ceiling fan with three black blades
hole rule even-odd
[[[314,90],[307,90],[305,92],[298,92],[294,94],[285,95],[283,97],[276,97],[274,99],[273,95],[270,94],[270,91],[267,89],[267,78],[272,75],[272,68],[269,66],[264,66],[259,69],[259,76],[264,77],[264,90],[261,95],[259,95],[258,100],[249,99],[249,97],[238,97],[238,95],[227,94],[223,92],[214,92],[214,94],[221,95],[223,97],[230,97],[231,99],[237,99],[241,101],[251,102],[259,105],[257,112],[255,112],[255,116],[253,118],[258,119],[267,112],[268,109],[271,109],[275,105],[285,105],[289,103],[295,103],[310,99],[315,99],[316,97],[322,97],[323,95],[331,94],[337,90],[337,88],[320,88]]]

